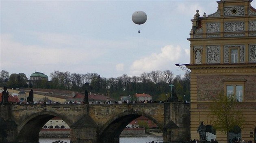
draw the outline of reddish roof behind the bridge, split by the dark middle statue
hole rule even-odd
[[[69,99],[84,99],[85,98],[85,93],[76,93],[76,95],[74,97],[71,97]],[[89,93],[88,94],[88,99],[89,100],[106,100],[107,97],[105,95],[102,95],[102,94],[96,94],[96,93]],[[109,98],[108,100],[110,101],[115,101],[114,99],[112,98]]]

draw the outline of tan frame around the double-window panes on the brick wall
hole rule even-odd
[[[245,81],[246,80],[223,80],[224,82],[224,91],[225,91],[225,95],[227,95],[227,86],[233,86],[233,96],[235,97],[236,99],[236,86],[242,86],[242,91],[243,91],[243,94],[242,94],[242,101],[237,101],[236,102],[245,102]]]

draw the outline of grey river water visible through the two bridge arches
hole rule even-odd
[[[54,141],[66,141],[70,142],[69,138],[39,138],[39,143],[52,143]],[[149,137],[120,137],[120,143],[148,143],[151,141],[154,142],[163,142],[162,136],[149,136]]]

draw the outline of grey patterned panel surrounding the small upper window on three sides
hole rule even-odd
[[[244,54],[244,49],[245,46],[244,45],[224,45],[224,63],[229,63],[229,57],[230,57],[230,53],[229,53],[229,49],[230,48],[239,48],[239,58],[240,58],[240,63],[244,62],[245,59],[245,54]]]

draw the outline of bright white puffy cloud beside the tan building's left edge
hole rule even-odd
[[[169,65],[189,61],[189,49],[180,46],[167,45],[161,48],[161,53],[136,60],[130,66],[130,74],[138,76],[143,72],[170,69]]]

